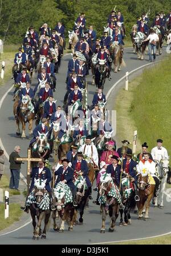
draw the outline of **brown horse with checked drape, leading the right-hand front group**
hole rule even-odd
[[[115,191],[118,192],[118,198],[115,197]],[[99,201],[101,203],[100,209],[102,213],[102,225],[100,233],[105,233],[105,218],[106,213],[109,210],[109,217],[111,218],[111,226],[109,227],[109,232],[113,232],[115,229],[115,222],[119,215],[119,202],[121,202],[121,197],[119,190],[113,183],[110,174],[103,174],[100,177],[99,183]]]

